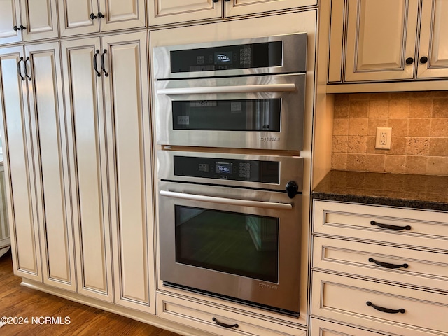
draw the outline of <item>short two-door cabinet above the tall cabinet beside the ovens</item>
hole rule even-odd
[[[58,0],[61,36],[146,27],[145,0]]]

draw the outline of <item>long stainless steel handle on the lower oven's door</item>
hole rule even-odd
[[[183,200],[211,202],[211,203],[219,203],[219,204],[230,204],[230,205],[237,205],[240,207],[258,207],[258,208],[268,208],[268,209],[276,209],[276,210],[293,209],[293,204],[290,204],[290,203],[273,203],[273,202],[262,202],[262,201],[251,201],[251,200],[236,200],[234,198],[176,193],[174,191],[167,191],[167,190],[160,190],[160,195],[167,196],[167,197],[181,198]]]

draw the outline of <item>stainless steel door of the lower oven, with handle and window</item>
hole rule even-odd
[[[162,281],[298,314],[302,195],[159,187]]]

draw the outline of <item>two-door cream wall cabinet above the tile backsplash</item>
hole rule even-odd
[[[328,82],[447,77],[447,15],[448,0],[332,0]]]

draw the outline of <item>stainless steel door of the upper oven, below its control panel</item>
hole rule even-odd
[[[305,74],[160,80],[157,143],[300,151]]]

